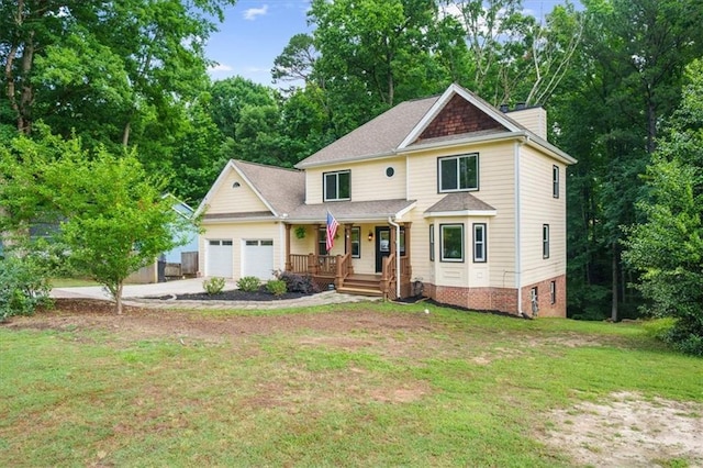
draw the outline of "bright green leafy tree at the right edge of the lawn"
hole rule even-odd
[[[703,356],[703,60],[689,68],[680,109],[647,168],[645,222],[631,230],[625,259],[643,272],[639,289],[657,315],[678,323],[669,335]]]

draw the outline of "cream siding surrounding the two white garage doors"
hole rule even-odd
[[[281,223],[227,223],[208,224],[203,223],[205,233],[199,237],[199,270],[205,271],[205,246],[209,239],[232,239],[233,275],[235,280],[242,278],[242,255],[244,241],[247,239],[272,239],[274,241],[274,268],[284,269],[286,259],[282,250],[286,248],[286,230]],[[294,234],[291,233],[291,237]],[[291,244],[292,244],[291,238]],[[292,248],[292,247],[291,247]]]

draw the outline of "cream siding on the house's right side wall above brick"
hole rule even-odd
[[[551,169],[559,167],[559,198]],[[521,149],[522,283],[566,274],[566,166],[533,148]],[[542,227],[549,224],[549,258],[542,255]]]

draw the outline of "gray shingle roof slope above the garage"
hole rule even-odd
[[[288,213],[303,204],[305,200],[305,174],[295,169],[265,166],[243,160],[232,160],[258,190],[264,199],[277,211]]]

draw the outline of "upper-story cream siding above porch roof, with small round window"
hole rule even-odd
[[[386,169],[393,168],[393,177]],[[326,166],[305,171],[305,203],[323,202],[322,177],[325,172],[352,171],[352,201],[393,200],[405,197],[405,160],[402,157]]]

